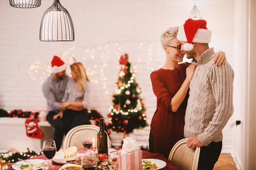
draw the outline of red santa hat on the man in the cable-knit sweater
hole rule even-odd
[[[193,49],[192,42],[209,43],[211,42],[212,31],[206,27],[206,20],[186,20],[183,26],[179,27],[177,39],[188,42],[183,45],[184,50]]]

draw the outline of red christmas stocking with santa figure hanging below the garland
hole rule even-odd
[[[44,137],[44,132],[38,127],[38,119],[25,121],[26,134],[28,137],[42,139]]]

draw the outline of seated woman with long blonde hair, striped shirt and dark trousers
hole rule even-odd
[[[63,119],[66,133],[73,127],[90,124],[88,120],[87,105],[89,103],[90,81],[81,62],[70,65],[72,78],[67,82],[67,87],[61,102],[61,111],[55,115]]]

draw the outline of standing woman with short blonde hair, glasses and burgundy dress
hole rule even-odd
[[[178,27],[172,27],[162,34],[161,44],[166,62],[150,75],[153,92],[157,97],[157,109],[150,125],[149,150],[162,153],[166,158],[175,143],[184,138],[189,84],[197,66],[188,62],[179,64],[183,61],[184,53],[176,38],[177,33]],[[218,51],[212,64],[220,65],[225,62],[225,53]]]

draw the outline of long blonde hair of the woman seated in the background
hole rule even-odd
[[[77,63],[77,65],[76,65],[76,63]],[[78,91],[82,92],[82,91],[84,91],[86,80],[88,82],[90,82],[90,80],[87,77],[84,65],[81,62],[76,62],[76,63],[70,65],[70,69],[77,74]]]

